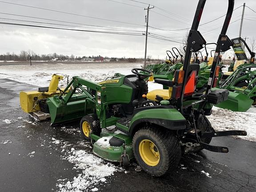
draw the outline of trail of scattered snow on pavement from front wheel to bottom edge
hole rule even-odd
[[[73,145],[67,141],[56,140],[53,137],[51,140],[52,144],[61,146],[62,159],[74,164],[73,169],[79,172],[72,180],[58,180],[56,186],[59,188],[59,192],[97,191],[97,184],[107,184],[108,176],[122,170],[122,168],[93,155],[91,151],[75,149],[78,145],[91,148],[88,142]]]

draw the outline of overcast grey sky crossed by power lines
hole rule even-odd
[[[116,1],[116,2],[114,2]],[[186,30],[182,31],[166,31],[166,29],[183,29],[190,28],[192,19],[196,11],[197,0],[138,0],[146,4],[134,2],[131,0],[8,0],[6,2],[47,8],[61,12],[70,12],[73,14],[97,17],[93,19],[84,16],[75,16],[60,12],[52,12],[36,8],[28,8],[24,6],[6,4],[0,2],[0,20],[1,22],[33,24],[42,26],[51,26],[59,28],[73,28],[94,31],[116,31],[117,29],[107,30],[99,29],[103,27],[128,29],[136,31],[136,34],[145,32],[145,15],[144,7],[146,4],[155,5],[156,8],[150,10],[149,25],[154,28],[148,28],[148,32],[155,37],[165,36],[166,39],[174,41],[182,41],[186,34]],[[121,2],[124,4],[120,4]],[[243,5],[243,3],[256,11],[256,0],[236,0],[235,8]],[[135,6],[131,6],[131,5]],[[201,24],[220,17],[227,12],[228,0],[207,0],[201,20]],[[8,14],[16,14],[22,16],[40,17],[48,20],[28,18],[21,16],[12,16]],[[242,7],[233,12],[228,36],[235,38],[239,35],[240,18]],[[14,20],[6,20],[14,19]],[[256,36],[256,13],[245,8],[245,19],[243,24],[242,37],[247,36],[252,39]],[[16,20],[29,20],[36,22],[73,25],[60,26],[52,24],[39,24]],[[58,21],[61,20],[70,24]],[[120,22],[113,22],[115,20]],[[222,26],[224,17],[205,24],[199,28],[208,43],[216,42]],[[125,23],[121,23],[125,22]],[[130,23],[130,24],[127,24]],[[81,25],[83,24],[83,25]],[[87,25],[85,25],[87,24]],[[93,27],[89,25],[97,25],[102,27]],[[80,26],[80,27],[78,27]],[[90,28],[86,28],[90,27]],[[217,29],[216,29],[217,28]],[[109,29],[109,28],[108,28]],[[212,30],[214,29],[214,30]],[[131,32],[131,31],[127,31]],[[127,36],[116,34],[102,34],[93,32],[65,31],[48,28],[32,28],[24,26],[10,26],[0,24],[0,53],[15,52],[20,50],[31,49],[38,54],[48,54],[56,52],[58,54],[76,56],[92,56],[101,55],[109,57],[144,57],[145,36]],[[164,58],[165,51],[172,47],[180,47],[179,43],[165,40],[148,38],[148,55],[153,58]]]

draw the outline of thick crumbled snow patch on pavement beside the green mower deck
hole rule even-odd
[[[82,173],[67,181],[64,184],[58,184],[60,192],[83,192],[92,188],[99,182],[106,182],[107,176],[113,175],[117,168],[106,163],[93,154],[88,154],[84,150],[71,149],[72,154],[67,158],[68,161],[75,164],[74,169],[82,169]],[[92,188],[92,191],[98,191],[98,188]]]

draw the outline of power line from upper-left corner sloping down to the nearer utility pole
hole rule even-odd
[[[6,2],[6,1],[0,1],[0,2],[1,3],[6,3],[6,4],[14,4],[14,5],[23,6],[23,7],[29,7],[29,8],[42,9],[42,10],[46,10],[46,11],[59,12],[59,13],[64,13],[64,14],[69,14],[69,15],[74,15],[74,16],[82,16],[82,17],[98,19],[98,20],[106,20],[106,21],[112,21],[112,22],[116,22],[116,23],[124,23],[124,24],[144,26],[144,25],[141,25],[141,24],[134,24],[134,23],[128,23],[128,22],[123,22],[123,21],[117,21],[117,20],[109,20],[109,19],[103,19],[103,18],[98,18],[98,17],[93,17],[93,16],[84,16],[84,15],[75,14],[75,13],[71,13],[71,12],[57,11],[57,10],[53,10],[53,9],[40,8],[40,7],[35,7],[35,6],[30,6],[30,5],[16,4],[16,3],[10,3],[10,2]]]

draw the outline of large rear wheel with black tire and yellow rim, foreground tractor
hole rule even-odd
[[[172,132],[140,129],[133,136],[132,149],[137,163],[152,176],[163,176],[180,162],[179,140]]]

